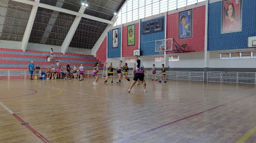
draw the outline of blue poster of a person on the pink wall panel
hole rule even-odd
[[[179,12],[179,39],[189,39],[192,37],[192,14],[192,10]]]

